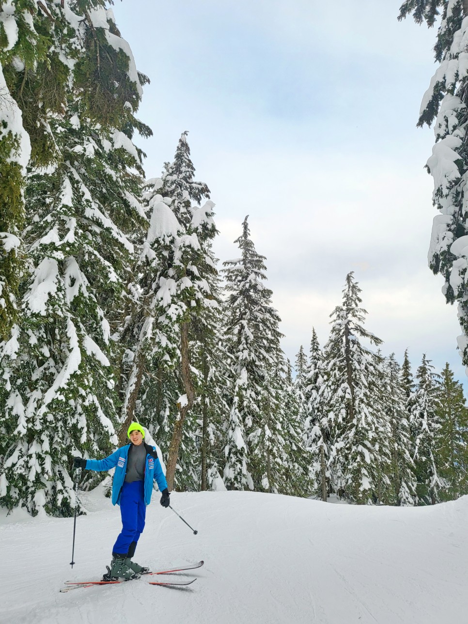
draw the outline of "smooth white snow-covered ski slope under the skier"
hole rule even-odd
[[[444,624],[468,622],[468,497],[419,507],[355,507],[253,492],[171,494],[188,529],[154,497],[135,560],[205,560],[173,589],[139,580],[59,593],[100,578],[120,514],[99,489],[77,519],[0,519],[0,622],[9,624]],[[158,580],[161,577],[157,577]]]

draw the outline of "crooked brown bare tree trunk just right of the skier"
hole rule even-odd
[[[180,327],[180,372],[182,374],[183,388],[187,394],[187,404],[180,407],[178,419],[174,424],[174,431],[169,445],[169,456],[166,466],[166,480],[168,490],[171,492],[174,487],[175,467],[177,466],[178,449],[182,441],[183,422],[192,409],[193,399],[195,399],[195,389],[192,384],[190,374],[190,364],[188,361],[188,321],[182,323]]]

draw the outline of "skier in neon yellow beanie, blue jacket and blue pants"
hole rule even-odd
[[[145,430],[138,422],[132,422],[127,431],[131,444],[120,447],[105,459],[74,457],[74,467],[86,470],[110,470],[115,467],[112,480],[112,504],[120,505],[122,532],[112,548],[109,576],[112,578],[136,578],[149,571],[132,561],[135,548],[145,527],[146,505],[150,504],[153,479],[162,494],[160,504],[169,505],[167,482],[162,472],[155,447],[145,444]]]

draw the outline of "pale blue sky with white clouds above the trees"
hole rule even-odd
[[[427,268],[434,133],[416,122],[436,32],[397,21],[399,0],[116,0],[149,76],[139,117],[147,177],[180,134],[216,204],[221,261],[249,215],[295,361],[321,344],[349,271],[366,328],[416,369],[423,353],[464,384],[457,310]]]

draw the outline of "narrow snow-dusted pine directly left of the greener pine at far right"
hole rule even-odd
[[[436,504],[439,501],[441,483],[436,466],[436,441],[440,428],[437,417],[437,376],[431,360],[422,356],[416,373],[417,388],[410,414],[410,426],[414,439],[412,456],[416,466],[416,493],[419,504]]]

